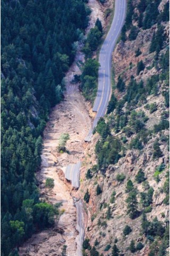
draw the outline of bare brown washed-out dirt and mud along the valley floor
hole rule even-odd
[[[91,28],[97,18],[104,22],[104,14],[101,10],[101,5],[96,0],[90,0],[89,6],[92,9],[89,25]],[[50,114],[49,122],[44,132],[41,170],[37,174],[41,199],[53,204],[61,202],[60,210],[63,214],[59,220],[56,220],[54,229],[48,229],[33,235],[24,243],[19,251],[20,256],[60,256],[63,245],[67,246],[68,256],[76,255],[75,237],[78,235],[75,229],[76,209],[73,205],[71,185],[64,181],[62,168],[68,164],[83,161],[84,150],[87,147],[84,138],[92,124],[92,119],[89,117],[87,110],[89,107],[80,94],[79,85],[71,83],[74,75],[81,73],[77,65],[79,61],[84,61],[84,56],[80,51],[78,51],[73,65],[66,74],[64,101],[54,107]],[[67,142],[67,149],[70,154],[57,153],[58,139],[61,133],[64,132],[70,134],[70,140]],[[55,186],[50,193],[47,193],[44,185],[47,178],[53,178],[55,182]],[[73,194],[75,195],[75,191]],[[58,228],[61,227],[63,227],[63,234],[58,233]]]

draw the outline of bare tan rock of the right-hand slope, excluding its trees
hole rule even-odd
[[[139,2],[140,1],[132,1],[134,12],[138,11],[136,7]],[[160,2],[158,6],[159,13],[164,11],[167,2],[168,1]],[[118,101],[122,100],[127,93],[132,76],[137,84],[140,83],[140,81],[143,82],[146,95],[143,97],[143,100],[134,103],[133,107],[130,106],[127,122],[130,124],[130,118],[135,118],[135,115],[130,117],[132,111],[138,114],[143,113],[142,115],[146,117],[146,131],[156,129],[156,125],[161,122],[162,116],[168,115],[166,112],[168,108],[165,105],[164,97],[167,81],[166,79],[160,79],[163,67],[162,62],[160,63],[158,60],[160,56],[166,54],[167,51],[169,23],[167,21],[160,23],[163,27],[166,39],[164,40],[164,46],[159,51],[157,59],[155,57],[156,52],[150,51],[150,45],[153,35],[158,30],[158,23],[155,23],[149,29],[138,28],[139,33],[137,37],[133,40],[126,39],[125,42],[121,40],[117,43],[113,53],[115,80],[113,91]],[[137,21],[133,19],[132,24],[133,26],[137,26]],[[129,34],[130,30],[126,30],[126,38],[129,38]],[[138,49],[140,50],[139,55],[137,54]],[[138,72],[138,63],[140,61],[143,62],[144,68]],[[120,76],[125,83],[125,89],[122,92],[118,90],[116,86],[118,77]],[[157,84],[157,92],[148,94],[148,81],[154,76],[159,77],[155,82]],[[128,102],[124,102],[122,107],[124,113],[128,111],[127,106]],[[149,106],[154,106],[155,109],[152,110],[152,107],[149,108]],[[111,117],[113,117],[113,122],[115,122],[117,118],[116,111],[117,110],[113,110],[111,114],[106,116],[106,123],[111,121]],[[95,145],[101,137],[96,133],[86,151],[84,167],[81,170],[80,196],[84,196],[87,188],[90,194],[89,202],[84,202],[84,207],[88,215],[86,238],[90,239],[90,245],[95,245],[96,250],[100,254],[103,253],[102,255],[118,255],[112,254],[112,247],[116,242],[115,238],[117,239],[116,245],[122,253],[121,255],[149,255],[149,252],[151,252],[151,239],[152,242],[154,240],[157,241],[156,236],[158,235],[153,235],[152,238],[149,238],[149,233],[143,232],[141,226],[142,212],[144,211],[146,213],[148,221],[152,222],[155,217],[157,217],[157,221],[162,223],[164,228],[167,226],[169,206],[165,200],[166,189],[164,187],[167,181],[167,171],[169,167],[169,149],[167,145],[169,132],[167,126],[163,127],[163,129],[160,129],[158,132],[150,132],[149,136],[147,135],[147,140],[144,143],[142,142],[140,149],[131,146],[132,141],[138,137],[137,132],[125,135],[123,128],[119,131],[115,131],[115,127],[111,125],[111,133],[113,137],[120,138],[121,141],[126,140],[122,143],[121,158],[118,162],[108,165],[105,169],[99,168],[99,170],[97,170],[96,165],[98,164],[98,157],[95,154]],[[123,139],[123,137],[125,139]],[[154,157],[154,145],[156,141],[158,141],[159,148],[162,151],[159,157]],[[92,178],[87,175],[88,169],[90,169]],[[145,173],[145,178],[143,181],[138,182],[137,175],[140,169]],[[123,175],[124,178],[122,178],[122,180],[118,179],[118,174]],[[132,181],[133,189],[137,191],[138,210],[140,214],[134,219],[131,219],[129,214],[127,214],[128,203],[126,199],[129,197],[129,191],[127,192],[126,190],[128,180]],[[98,185],[101,188],[99,192],[97,192]],[[143,193],[147,194],[150,188],[153,189],[153,193],[148,203],[149,206],[146,206],[147,204],[145,205],[142,201],[142,195]],[[130,226],[132,230],[128,235],[123,232],[126,225]],[[135,247],[141,242],[143,248],[137,250],[136,247],[135,251],[132,252],[133,250],[129,248],[132,240],[135,243]],[[161,244],[160,241],[162,238],[159,237],[158,240]],[[89,250],[84,250],[84,255],[99,254],[91,254]],[[165,254],[160,254],[159,250],[159,255]]]

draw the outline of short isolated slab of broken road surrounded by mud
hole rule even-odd
[[[74,188],[80,187],[80,168],[81,162],[66,166],[65,179],[70,180]]]

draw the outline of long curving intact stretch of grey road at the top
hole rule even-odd
[[[111,28],[107,34],[105,42],[99,55],[99,83],[97,97],[94,103],[93,111],[97,112],[92,128],[90,129],[85,141],[91,141],[92,130],[96,127],[100,117],[106,114],[109,99],[111,97],[111,65],[112,52],[118,36],[123,27],[126,12],[126,0],[115,1],[115,13]]]

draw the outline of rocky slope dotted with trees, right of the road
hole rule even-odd
[[[168,253],[168,6],[128,1],[113,95],[81,173],[84,255]]]

